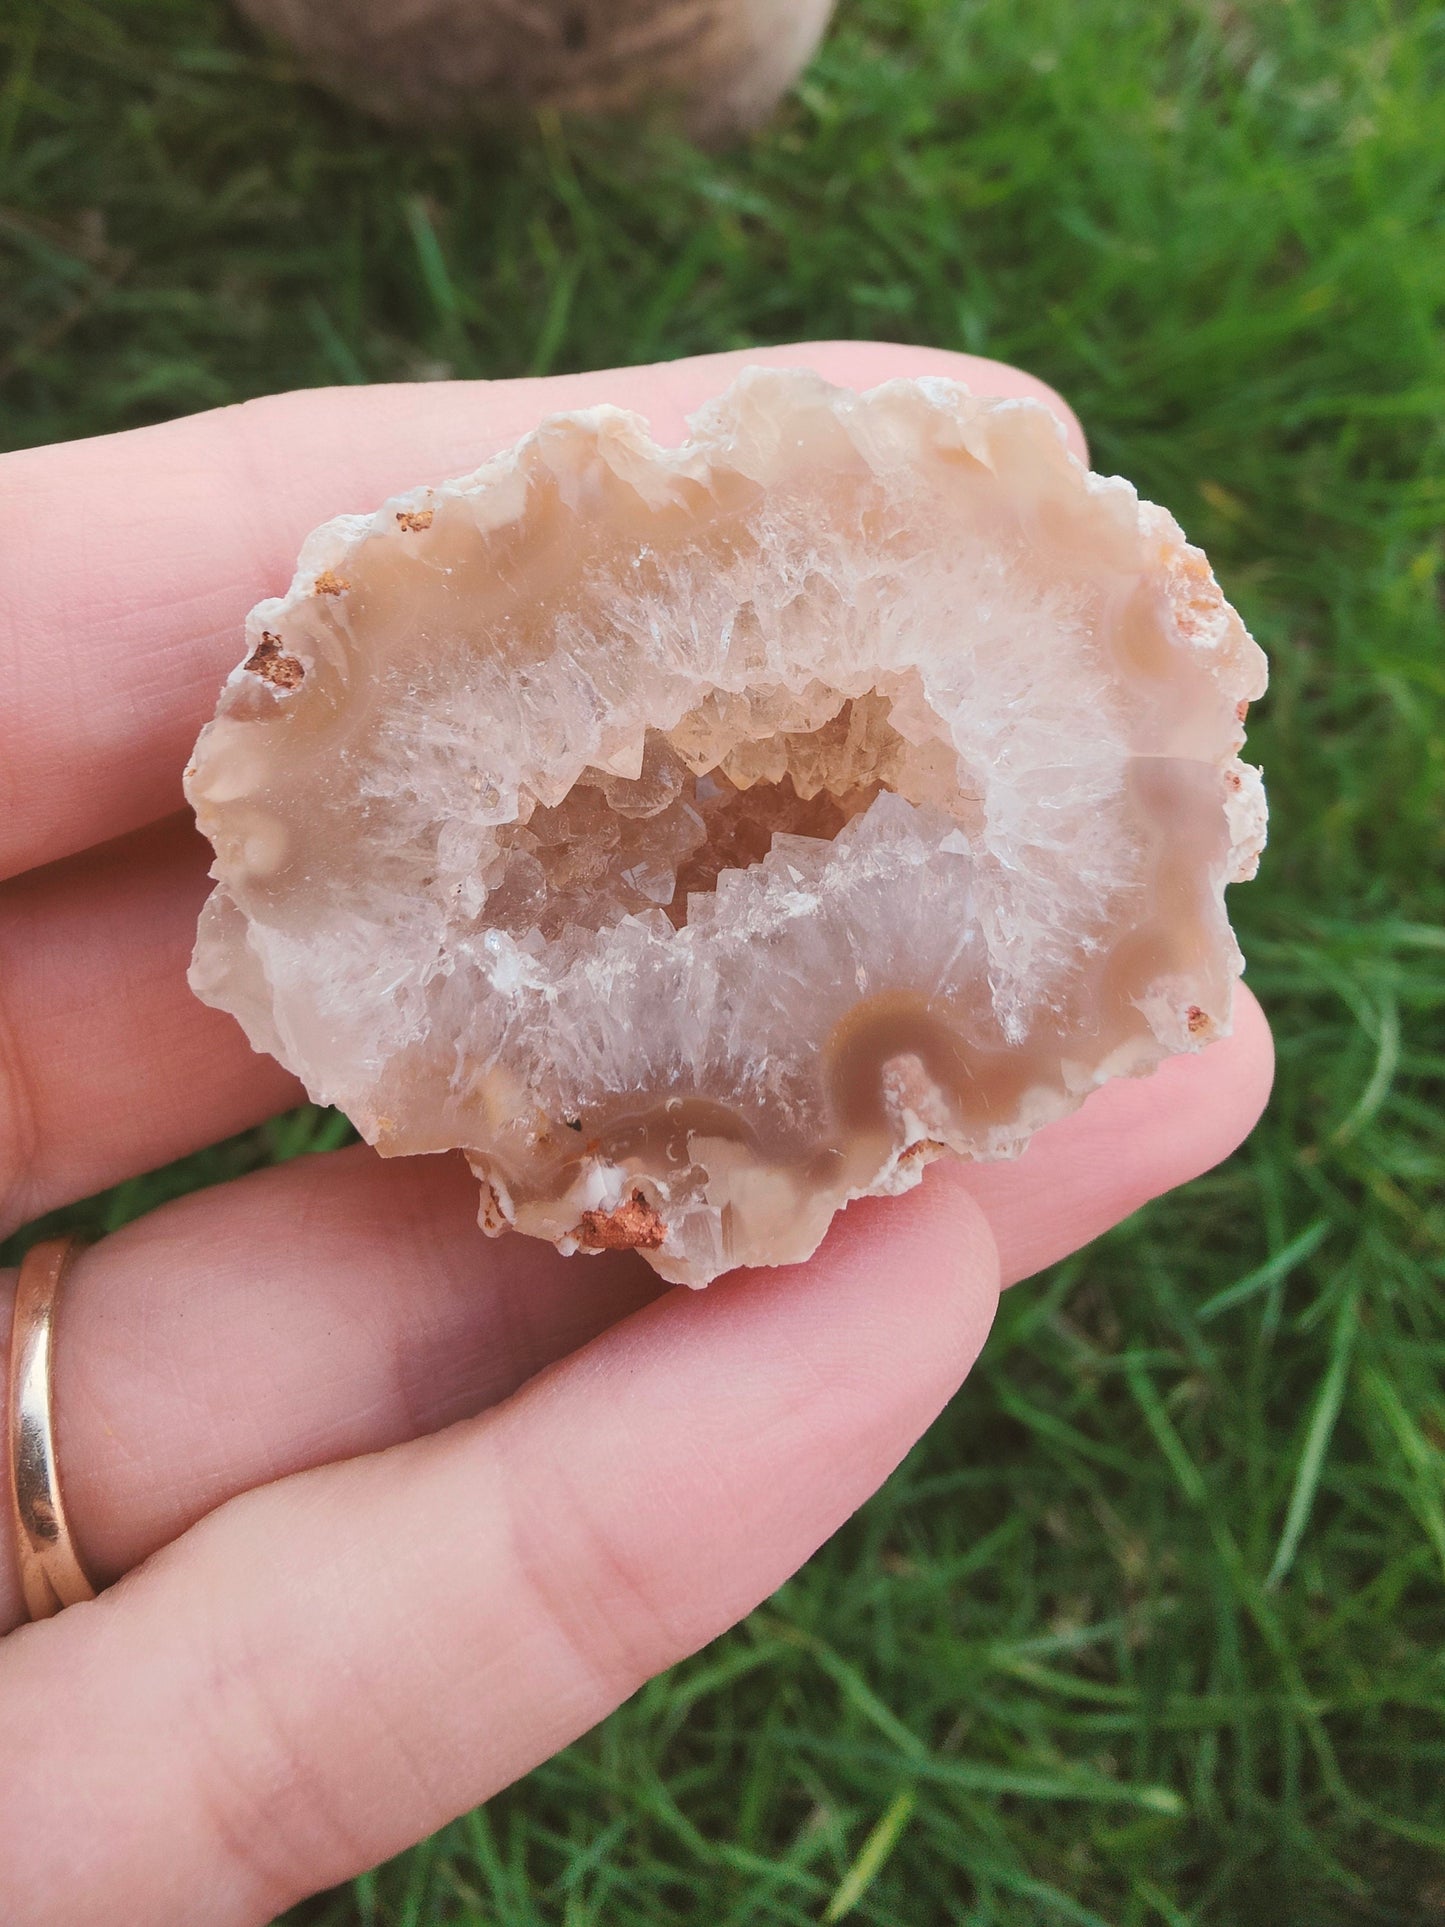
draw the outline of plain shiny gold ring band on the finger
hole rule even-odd
[[[56,1303],[77,1237],[31,1245],[19,1266],[10,1326],[10,1499],[15,1555],[31,1619],[94,1599],[75,1553],[60,1499],[56,1430],[50,1418]]]

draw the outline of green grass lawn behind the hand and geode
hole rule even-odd
[[[297,383],[965,347],[1071,397],[1274,661],[1250,1145],[1019,1289],[744,1628],[297,1921],[1445,1919],[1445,15],[857,0],[724,156],[383,137],[212,0],[12,0],[0,48],[10,445]]]

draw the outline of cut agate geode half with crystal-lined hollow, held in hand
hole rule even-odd
[[[191,983],[482,1222],[801,1258],[1229,1027],[1264,659],[1054,416],[749,370],[343,516],[187,771]]]

